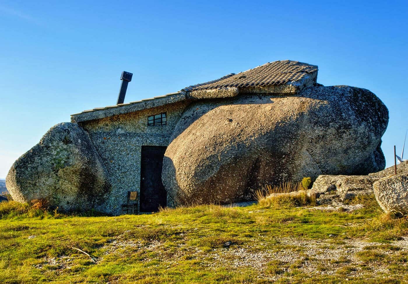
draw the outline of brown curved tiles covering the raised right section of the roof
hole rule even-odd
[[[317,71],[316,65],[298,61],[274,61],[234,74],[231,73],[218,80],[186,87],[181,91],[223,89],[228,87],[271,86],[296,82]]]

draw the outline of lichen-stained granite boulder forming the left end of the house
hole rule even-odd
[[[111,190],[109,175],[89,135],[71,122],[53,126],[6,177],[18,202],[46,199],[62,211],[89,210]]]

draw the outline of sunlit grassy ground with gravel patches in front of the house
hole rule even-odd
[[[407,282],[406,219],[384,215],[373,197],[352,203],[365,207],[212,205],[81,217],[3,202],[0,282]]]

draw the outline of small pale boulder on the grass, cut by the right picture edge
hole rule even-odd
[[[408,215],[408,174],[384,177],[373,184],[374,195],[387,213]]]

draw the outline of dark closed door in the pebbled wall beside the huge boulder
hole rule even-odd
[[[165,207],[167,193],[162,182],[166,147],[142,146],[140,163],[140,212],[155,212]]]

